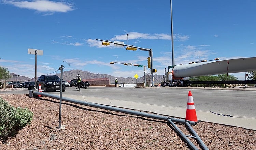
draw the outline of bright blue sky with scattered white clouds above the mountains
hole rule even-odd
[[[175,64],[255,57],[255,8],[255,0],[172,0]],[[71,70],[144,75],[143,67],[110,62],[147,65],[147,51],[95,39],[151,48],[156,74],[172,65],[170,0],[0,0],[0,33],[0,65],[30,78],[35,55],[28,48],[43,50],[37,76],[61,65],[69,71],[66,62]],[[244,73],[232,75],[245,80]]]

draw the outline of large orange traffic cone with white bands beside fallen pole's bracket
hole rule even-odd
[[[196,108],[191,91],[188,92],[186,120],[197,122]]]

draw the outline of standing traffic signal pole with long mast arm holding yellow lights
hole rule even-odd
[[[152,71],[152,68],[153,68],[153,52],[152,52],[152,49],[141,48],[141,47],[137,47],[137,46],[133,46],[133,45],[128,45],[128,44],[122,44],[122,43],[111,42],[111,41],[108,41],[108,40],[101,40],[101,39],[96,39],[96,40],[102,41],[102,42],[105,42],[105,43],[114,43],[114,44],[116,44],[116,45],[126,46],[126,47],[129,47],[129,48],[131,48],[131,49],[137,48],[137,49],[140,49],[140,50],[143,50],[143,51],[148,51],[149,56],[150,56],[150,61],[151,61],[151,69],[150,69],[150,73],[151,73],[151,83],[152,83],[152,86],[154,86],[154,81],[153,81],[154,74],[153,74],[153,71]],[[108,44],[108,45],[109,45],[109,44]],[[128,50],[131,50],[131,49],[128,49]],[[136,49],[134,49],[134,50],[136,50]]]

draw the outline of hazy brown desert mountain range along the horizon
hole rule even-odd
[[[132,78],[132,77],[128,77],[128,78],[124,78],[124,77],[115,77],[115,76],[111,76],[108,74],[95,74],[95,73],[90,73],[88,71],[83,71],[83,70],[70,70],[70,77],[69,77],[69,71],[64,71],[63,72],[63,80],[66,81],[70,81],[70,79],[75,79],[77,78],[77,74],[80,74],[82,79],[99,79],[99,78],[109,78],[110,80],[110,84],[114,84],[115,83],[115,78],[118,79],[118,83],[126,83],[126,84],[132,84],[132,83],[144,83],[144,76],[137,78]],[[34,81],[34,78],[29,78],[29,77],[25,77],[25,76],[19,76],[19,77],[13,77],[13,75],[16,75],[15,73],[11,73],[10,76],[11,78],[6,80],[6,82],[11,82],[11,81],[20,81],[20,82],[25,82],[25,81]],[[60,73],[56,74],[57,76],[60,77]],[[154,75],[154,83],[158,84],[161,83],[163,78],[163,75]],[[150,74],[146,74],[146,81],[150,80],[151,82],[151,75]],[[0,80],[1,82],[5,82],[4,80]]]

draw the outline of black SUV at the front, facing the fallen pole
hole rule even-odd
[[[60,78],[56,75],[41,75],[37,80],[37,89],[39,84],[44,92],[60,90]],[[62,92],[65,90],[65,83],[62,82]]]

